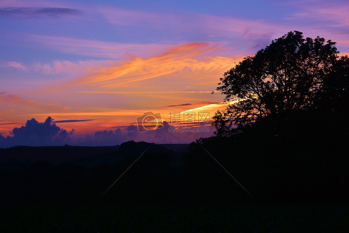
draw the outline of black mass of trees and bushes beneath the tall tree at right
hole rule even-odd
[[[193,176],[198,187],[204,187],[205,180],[215,183],[216,174],[225,173],[207,156],[204,147],[253,196],[247,198],[247,192],[237,184],[226,189],[224,182],[228,183],[228,178],[233,180],[229,175],[224,181],[218,181],[222,182],[218,185],[220,192],[238,193],[239,200],[263,203],[348,202],[348,136],[341,134],[342,129],[330,129],[328,125],[331,123],[319,118],[315,121],[308,116],[298,116],[298,119],[293,119],[294,124],[281,134],[275,134],[275,125],[266,120],[245,126],[231,137],[199,139],[191,144],[186,166],[193,174],[198,174]],[[212,176],[210,172],[213,171],[216,173]]]

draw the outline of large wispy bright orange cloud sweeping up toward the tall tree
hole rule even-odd
[[[90,94],[178,94],[201,93],[227,65],[240,57],[210,57],[222,50],[222,43],[193,42],[177,46],[166,46],[159,55],[140,58],[131,56],[120,61],[121,67],[113,60],[100,61],[53,61],[53,63],[36,63],[32,68],[46,74],[60,72],[78,73],[74,81],[65,82],[54,87],[44,88],[44,92],[57,92],[74,89],[75,93]],[[233,65],[232,65],[233,66]],[[129,72],[129,73],[127,73]],[[136,81],[146,84],[144,89]],[[173,85],[180,82],[183,85]],[[136,84],[136,85],[135,85]],[[205,86],[206,85],[206,86]],[[203,88],[203,86],[205,86]],[[164,90],[164,91],[162,91]],[[211,90],[212,91],[212,90]],[[207,90],[205,93],[209,93]]]

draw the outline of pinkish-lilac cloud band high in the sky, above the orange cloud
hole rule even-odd
[[[99,8],[98,10],[110,23],[118,26],[143,24],[147,25],[148,28],[201,34],[209,37],[231,37],[238,34],[238,36],[244,36],[246,39],[253,38],[261,31],[266,33],[265,36],[267,37],[280,31],[280,25],[268,23],[264,20],[247,20],[195,12],[176,11],[169,14],[111,7]],[[284,25],[283,30],[285,28],[289,27]],[[262,37],[263,35],[260,38]]]

